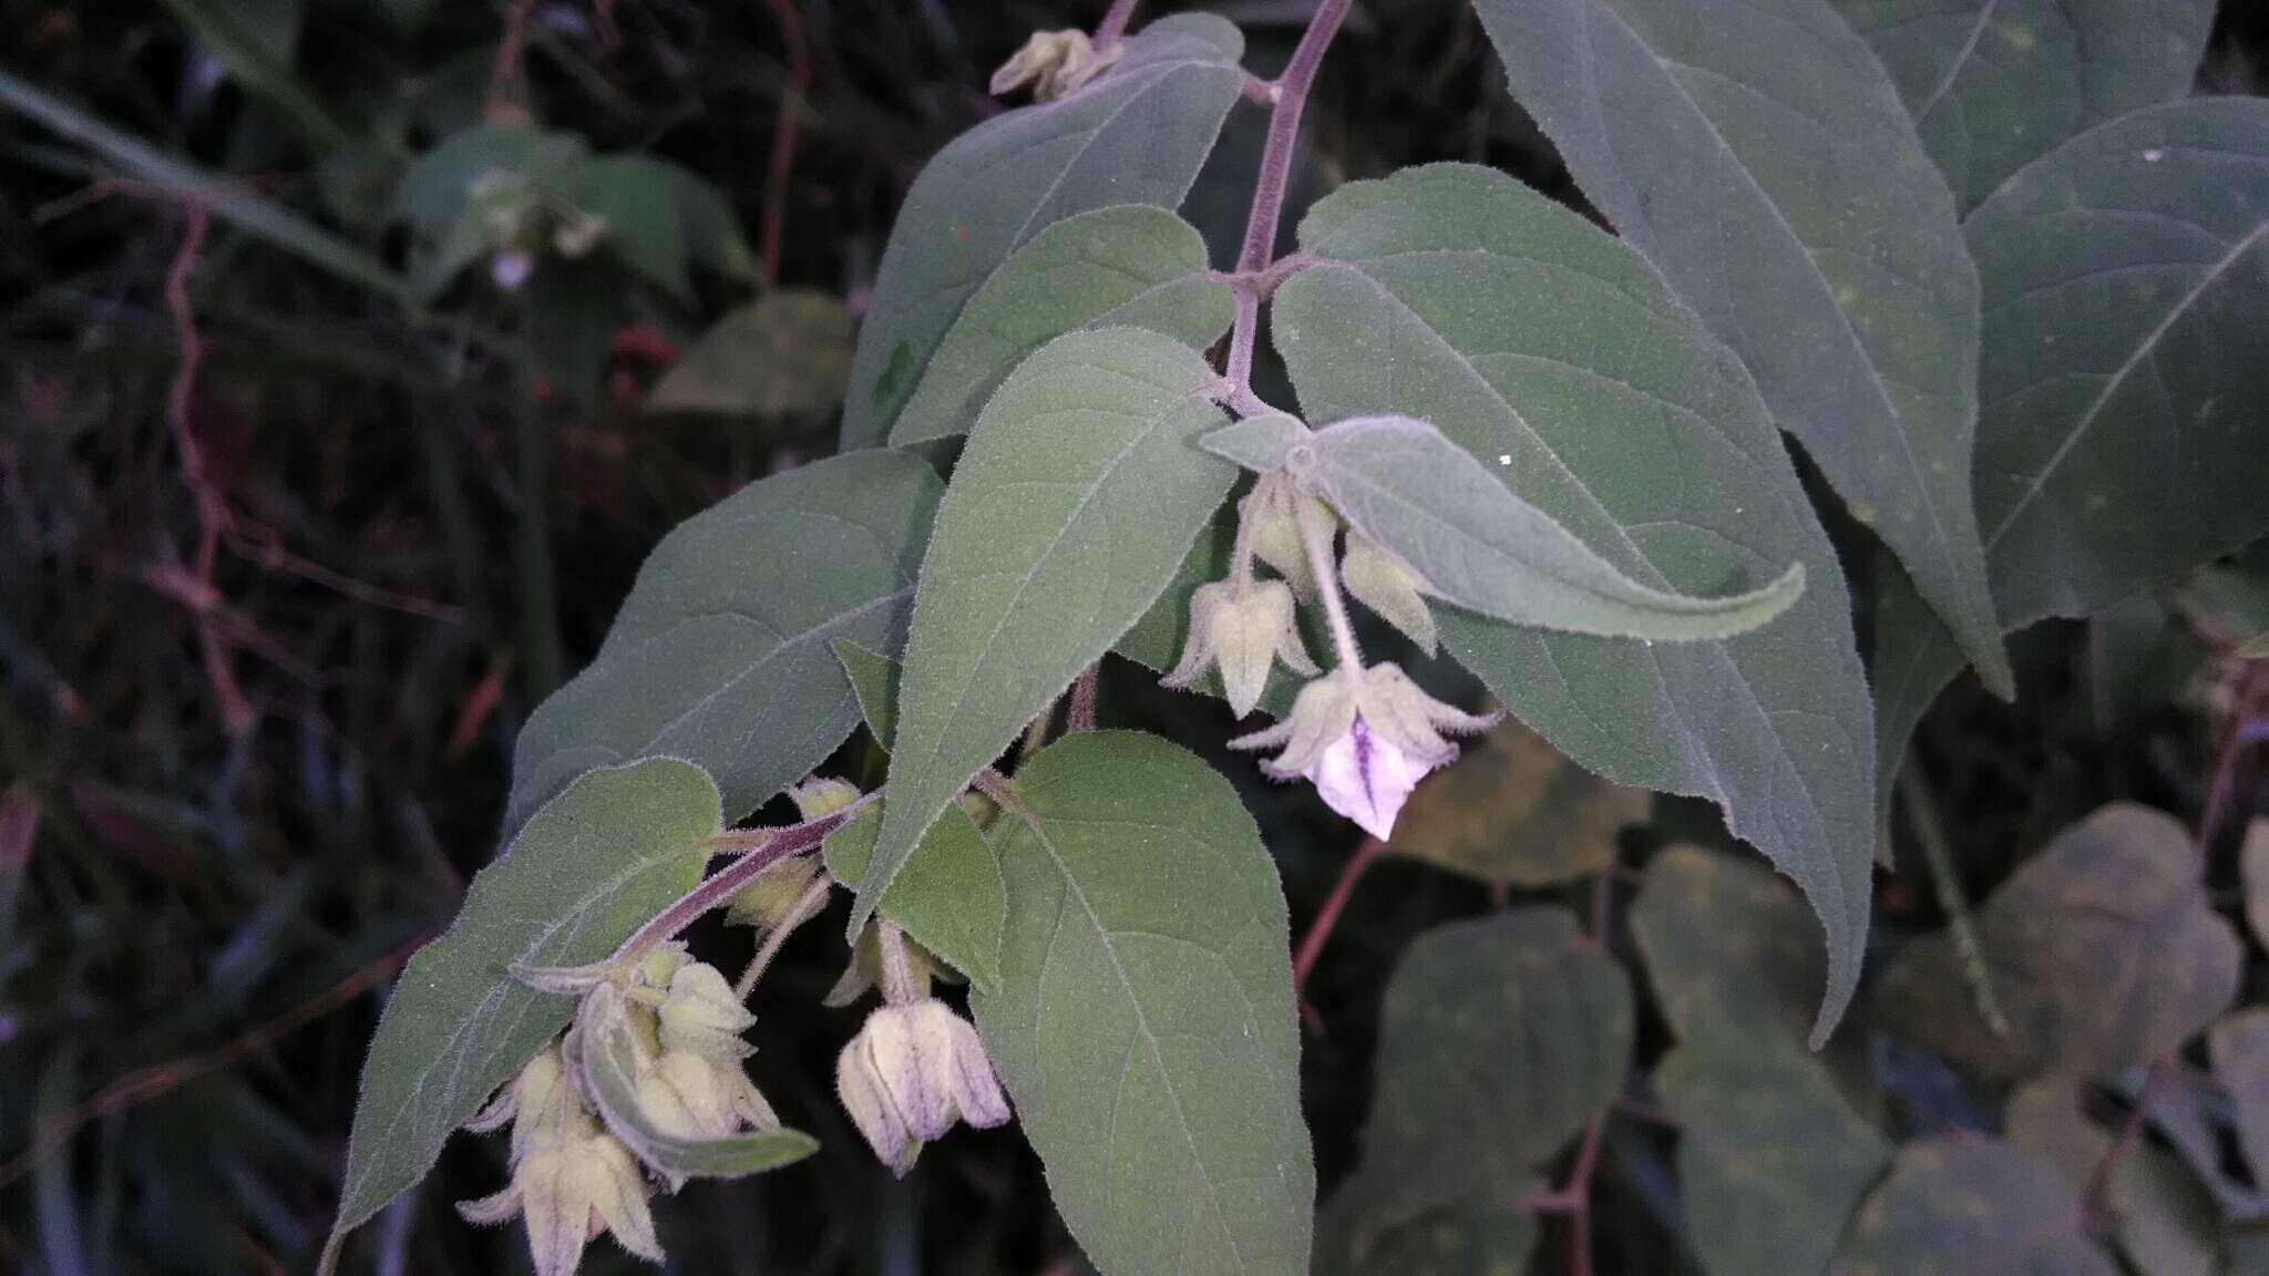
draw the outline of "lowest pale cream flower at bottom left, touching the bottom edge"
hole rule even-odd
[[[526,1219],[535,1276],[572,1276],[599,1233],[615,1233],[622,1249],[649,1262],[663,1260],[638,1158],[592,1117],[558,1042],[529,1060],[467,1128],[492,1131],[504,1119],[513,1122],[513,1181],[492,1197],[458,1203],[465,1222]]]

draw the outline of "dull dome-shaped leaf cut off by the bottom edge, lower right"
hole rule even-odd
[[[2056,1169],[2001,1140],[1910,1142],[1852,1224],[1838,1276],[2117,1276]]]

